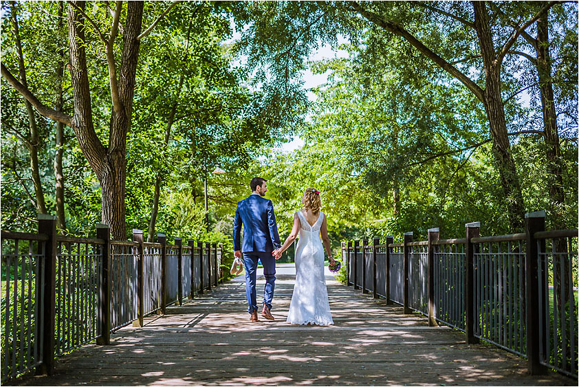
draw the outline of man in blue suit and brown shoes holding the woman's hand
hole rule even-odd
[[[249,303],[250,321],[258,321],[255,291],[258,259],[263,265],[263,276],[265,276],[261,316],[267,318],[267,320],[274,320],[270,309],[272,309],[272,300],[274,298],[276,258],[272,256],[272,252],[281,247],[281,243],[277,232],[274,206],[270,199],[263,197],[265,192],[267,192],[267,180],[261,177],[254,177],[251,180],[250,188],[252,194],[237,203],[233,222],[233,247],[235,256],[239,258],[242,257],[241,250],[243,247],[245,295]],[[239,243],[241,225],[243,225],[243,246]]]

